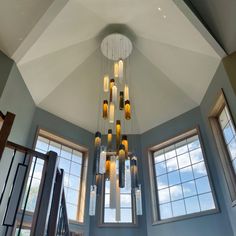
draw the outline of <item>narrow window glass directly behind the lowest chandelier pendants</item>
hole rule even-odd
[[[118,166],[118,161],[117,165]],[[118,172],[118,168],[117,168]],[[130,160],[125,161],[125,187],[120,188],[120,221],[116,220],[116,209],[110,208],[110,181],[108,179],[104,180],[105,184],[105,193],[103,198],[104,205],[104,219],[103,223],[111,224],[132,224],[134,223],[134,214],[133,214],[133,199],[131,194],[131,182],[130,177]]]

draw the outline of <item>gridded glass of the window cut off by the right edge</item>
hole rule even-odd
[[[220,121],[220,117],[221,117],[221,115],[223,115],[223,113],[226,117],[226,123],[224,125],[222,125],[222,122]],[[228,156],[229,156],[229,159],[230,159],[230,163],[232,165],[234,173],[236,174],[236,155],[235,156],[231,155],[232,149],[230,147],[230,144],[232,144],[232,142],[236,141],[236,130],[235,130],[235,126],[234,126],[232,117],[230,115],[229,109],[226,105],[224,105],[222,111],[219,113],[218,123],[219,123],[219,126],[221,128],[222,136],[223,136],[223,139],[224,139],[227,151],[228,151]],[[228,140],[228,141],[227,141],[227,137],[226,137],[226,134],[225,134],[225,131],[226,131],[227,127],[229,127],[230,132],[232,134],[231,139]]]

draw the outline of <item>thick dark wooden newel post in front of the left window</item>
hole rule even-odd
[[[48,161],[45,163],[45,176],[42,186],[41,195],[37,199],[36,211],[34,214],[31,236],[46,235],[48,227],[50,209],[52,204],[52,196],[59,158],[57,153],[50,151],[48,153]]]

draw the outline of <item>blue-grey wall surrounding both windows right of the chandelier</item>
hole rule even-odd
[[[236,235],[236,208],[231,207],[229,191],[225,182],[219,154],[208,121],[210,109],[216,102],[217,94],[219,94],[221,88],[223,88],[226,93],[234,120],[236,121],[235,94],[233,93],[224,67],[220,64],[209,88],[206,91],[206,95],[198,108],[195,108],[141,135],[144,181],[145,183],[148,183],[149,175],[147,166],[147,149],[168,140],[175,135],[199,126],[220,212],[189,220],[152,226],[152,206],[150,201],[146,201],[147,232],[150,236]],[[150,197],[150,185],[147,184],[145,185],[145,198],[150,199]]]

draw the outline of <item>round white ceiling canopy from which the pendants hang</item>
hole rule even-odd
[[[126,59],[133,50],[132,42],[123,34],[110,34],[101,43],[102,54],[109,60]]]

